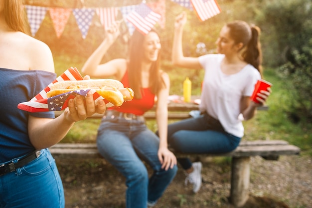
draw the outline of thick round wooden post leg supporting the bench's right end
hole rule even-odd
[[[239,208],[249,197],[250,157],[232,158],[230,202]]]

